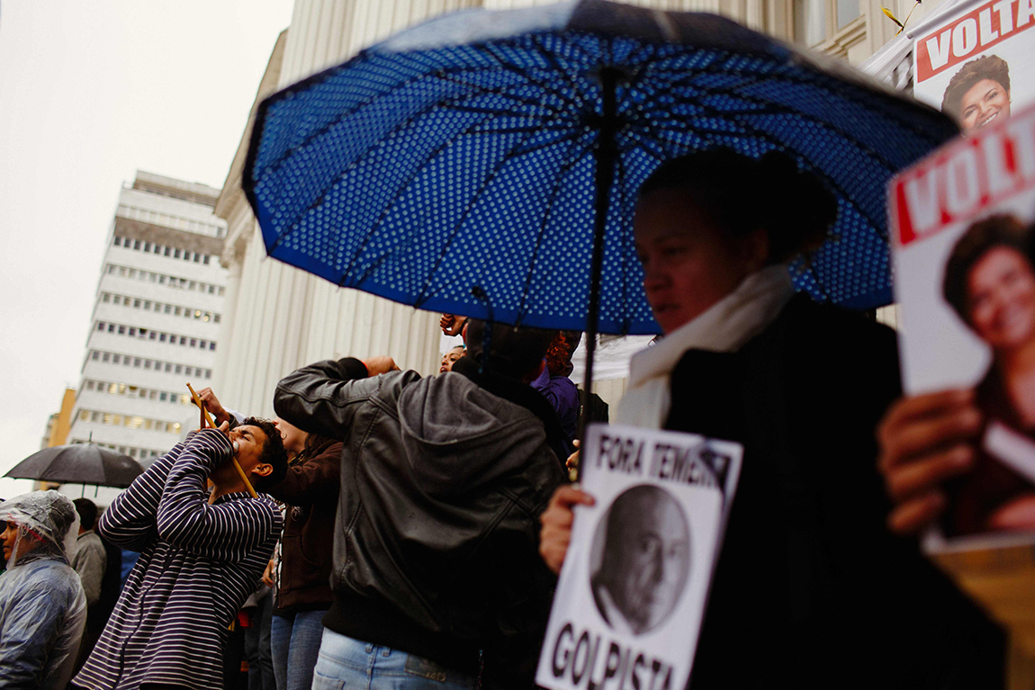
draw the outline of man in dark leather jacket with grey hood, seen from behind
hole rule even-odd
[[[569,447],[528,385],[554,333],[498,325],[486,357],[485,330],[435,378],[346,358],[277,386],[282,419],[344,442],[314,688],[471,688],[479,666],[484,688],[532,687],[555,584],[537,519]]]

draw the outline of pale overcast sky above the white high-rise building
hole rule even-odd
[[[0,474],[79,385],[119,188],[137,170],[223,186],[292,6],[0,0]]]

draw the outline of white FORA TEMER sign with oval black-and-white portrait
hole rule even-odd
[[[739,444],[691,433],[593,424],[539,657],[554,690],[682,690],[689,678]]]

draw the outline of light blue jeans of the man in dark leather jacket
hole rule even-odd
[[[369,644],[324,629],[313,690],[473,690],[474,677],[413,654]]]

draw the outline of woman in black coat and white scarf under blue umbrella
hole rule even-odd
[[[893,333],[795,295],[833,198],[788,157],[713,149],[662,164],[635,216],[666,333],[638,354],[618,421],[737,441],[743,469],[690,687],[1002,685],[1001,633],[884,527],[875,426],[898,395]],[[562,487],[540,550],[559,571]]]

